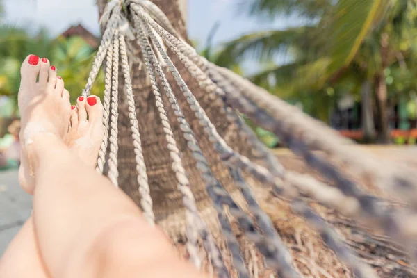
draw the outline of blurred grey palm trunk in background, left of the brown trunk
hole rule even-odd
[[[365,140],[365,142],[373,142],[375,138],[375,123],[373,118],[372,92],[369,81],[363,82],[361,95],[363,140]]]

